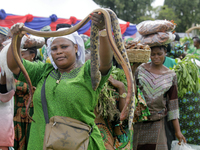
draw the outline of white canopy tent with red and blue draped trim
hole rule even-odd
[[[11,2],[8,1],[8,3],[12,3],[12,6],[16,6],[17,3],[20,3],[20,1],[23,0],[11,0]],[[40,2],[40,4],[38,4],[37,7],[34,7],[33,5],[37,3],[37,1]],[[7,1],[4,1],[4,3],[6,2]],[[16,4],[14,4],[15,2]],[[27,3],[27,1],[24,2]],[[9,5],[9,7],[6,7],[7,5],[1,6],[3,8],[0,8],[0,26],[10,28],[13,24],[22,22],[28,28],[34,30],[40,30],[44,26],[49,25],[51,27],[51,30],[55,31],[57,24],[67,23],[74,26],[82,19],[84,19],[84,17],[86,17],[93,10],[100,8],[100,6],[98,6],[92,0],[34,0],[33,4],[30,4],[30,2],[32,1],[29,1],[29,8],[23,7],[10,10],[15,13],[9,12],[11,5]],[[41,2],[44,2],[44,4],[41,4]],[[41,7],[42,5],[44,5],[45,7]],[[45,8],[47,8],[47,10],[45,10]],[[28,12],[28,14],[26,14],[25,11]],[[121,19],[119,19],[119,23],[122,35],[132,36],[137,32],[135,24],[125,22]],[[82,28],[80,28],[78,30],[78,33],[90,36],[90,27],[91,20],[86,23]]]

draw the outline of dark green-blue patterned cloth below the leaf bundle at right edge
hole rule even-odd
[[[179,99],[180,128],[187,143],[200,145],[200,90]]]

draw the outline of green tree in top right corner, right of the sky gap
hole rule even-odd
[[[181,20],[176,27],[177,32],[185,32],[192,24],[200,23],[199,0],[165,0],[164,4],[168,5]]]

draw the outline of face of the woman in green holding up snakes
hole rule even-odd
[[[51,44],[51,56],[56,66],[67,69],[76,63],[78,46],[66,38],[56,38]]]

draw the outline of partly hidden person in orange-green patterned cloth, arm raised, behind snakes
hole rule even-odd
[[[125,97],[123,97],[123,93],[126,93],[126,89],[124,83],[118,80],[115,80],[112,75],[110,75],[108,81],[113,85],[120,96],[116,96],[116,105],[111,99],[107,99],[106,102],[107,108],[97,107],[95,109],[95,115],[97,116],[95,119],[95,123],[98,126],[102,139],[104,141],[104,145],[106,149],[114,150],[115,148],[123,148],[130,149],[130,135],[125,131],[124,127],[128,127],[128,122],[124,121],[123,125],[120,124],[119,114],[122,111],[125,105]],[[100,102],[103,100],[99,99],[99,106],[101,106]],[[105,105],[105,104],[104,104]],[[99,109],[105,109],[104,111]],[[108,109],[108,110],[107,110]],[[108,116],[105,117],[103,113],[108,111]],[[99,114],[102,112],[102,114]],[[126,125],[125,125],[126,123]]]

